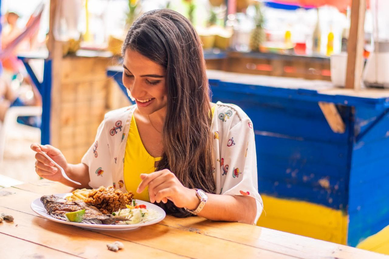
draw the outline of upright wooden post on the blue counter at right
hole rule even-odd
[[[366,0],[353,0],[351,6],[351,27],[347,43],[347,89],[361,89],[362,62],[364,50],[364,24]]]

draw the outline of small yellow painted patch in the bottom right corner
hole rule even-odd
[[[389,254],[389,226],[377,234],[366,238],[357,247],[377,253]]]

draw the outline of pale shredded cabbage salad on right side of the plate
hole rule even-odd
[[[131,205],[126,205],[127,208],[119,209],[118,211],[112,212],[113,217],[117,218],[127,218],[128,221],[119,221],[116,222],[118,225],[131,225],[131,224],[139,224],[146,223],[149,221],[153,221],[160,217],[160,213],[154,209],[147,209],[146,205],[136,205],[135,200],[132,200]]]

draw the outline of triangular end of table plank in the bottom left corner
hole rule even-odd
[[[0,233],[2,258],[83,258]]]

